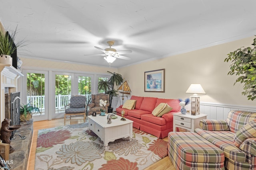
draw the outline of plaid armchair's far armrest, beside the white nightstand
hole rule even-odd
[[[229,131],[228,124],[224,120],[203,119],[199,124],[206,131]]]

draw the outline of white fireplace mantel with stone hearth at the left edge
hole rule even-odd
[[[16,68],[10,64],[0,63],[0,121],[4,118],[9,118],[5,116],[5,93],[8,92],[14,93],[18,91],[18,78],[23,76]],[[9,109],[7,107],[7,109]],[[8,114],[7,114],[8,115]],[[1,125],[0,123],[0,125]],[[12,140],[10,145],[14,148],[14,152],[9,155],[9,160],[12,160],[14,163],[10,164],[12,170],[26,170],[28,156],[31,147],[32,135],[33,135],[33,120],[30,120],[30,123],[21,123],[22,127],[17,130],[22,137],[16,136],[16,139]]]

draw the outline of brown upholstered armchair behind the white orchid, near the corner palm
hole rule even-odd
[[[100,106],[100,99],[107,100],[107,105],[104,107],[104,110],[108,111],[109,106],[109,94],[99,93],[99,94],[92,94],[92,101],[88,106],[90,107],[88,115],[92,115],[92,112],[96,112],[96,114],[100,114],[100,109],[103,109]]]

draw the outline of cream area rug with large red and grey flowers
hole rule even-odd
[[[167,156],[167,142],[133,128],[105,149],[87,123],[38,131],[35,170],[143,170]]]

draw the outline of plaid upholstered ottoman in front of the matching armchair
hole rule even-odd
[[[221,149],[194,132],[170,132],[168,156],[177,170],[224,170]]]

